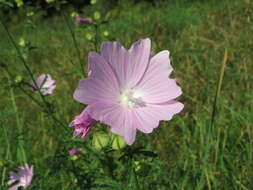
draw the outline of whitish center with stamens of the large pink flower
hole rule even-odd
[[[142,93],[134,89],[121,90],[118,96],[118,103],[128,109],[143,107],[145,103],[141,97]]]

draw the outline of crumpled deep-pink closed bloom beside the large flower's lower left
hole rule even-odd
[[[83,112],[76,116],[75,119],[69,124],[70,126],[75,127],[73,137],[81,134],[82,138],[86,138],[90,128],[96,123],[96,121],[88,114],[88,109],[88,107],[85,108]]]

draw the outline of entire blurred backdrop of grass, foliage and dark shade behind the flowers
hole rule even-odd
[[[84,108],[72,96],[88,52],[105,41],[129,48],[147,37],[154,53],[170,51],[171,77],[179,79],[185,108],[153,133],[138,133],[133,148],[150,153],[135,158],[139,188],[252,189],[253,1],[0,0],[0,18],[20,52],[0,25],[0,189],[24,154],[35,168],[29,189],[131,189],[128,165],[119,159],[129,147],[97,150],[96,134],[110,136],[106,127],[73,139],[68,123]],[[40,100],[26,85],[31,78],[20,56],[35,76],[56,80],[46,99],[63,126],[29,97]],[[71,148],[85,153],[70,156]]]

